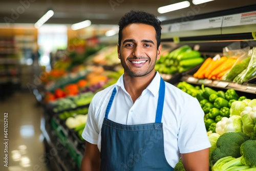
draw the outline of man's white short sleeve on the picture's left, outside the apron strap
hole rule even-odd
[[[98,124],[95,119],[95,105],[93,103],[94,99],[92,100],[89,111],[88,111],[88,117],[86,122],[86,127],[84,127],[84,130],[82,132],[82,138],[92,144],[97,144],[98,136],[99,136],[99,130],[98,130]]]

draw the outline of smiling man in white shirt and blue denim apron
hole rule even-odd
[[[141,11],[119,21],[124,74],[90,104],[81,170],[173,170],[180,157],[186,170],[209,169],[201,106],[155,72],[160,24]]]

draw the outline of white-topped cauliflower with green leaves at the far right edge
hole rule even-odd
[[[247,106],[244,111],[241,112],[241,117],[243,122],[243,133],[250,137],[254,127],[253,119],[256,118],[256,108]]]

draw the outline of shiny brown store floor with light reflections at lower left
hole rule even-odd
[[[16,92],[0,101],[1,166],[2,171],[45,171],[46,160],[44,136],[40,130],[42,107],[30,92]],[[4,117],[8,113],[8,137],[4,137]],[[5,139],[8,139],[5,141]],[[3,145],[3,142],[7,142]],[[8,144],[8,146],[6,146]],[[8,149],[8,152],[5,151]],[[5,153],[6,152],[6,153]],[[8,167],[4,166],[8,154]],[[4,160],[4,162],[3,162]]]

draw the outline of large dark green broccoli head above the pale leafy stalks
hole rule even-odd
[[[242,132],[229,132],[221,135],[216,142],[217,148],[211,154],[212,165],[214,165],[219,159],[223,157],[240,157],[240,146],[243,142],[249,139],[250,137]]]

